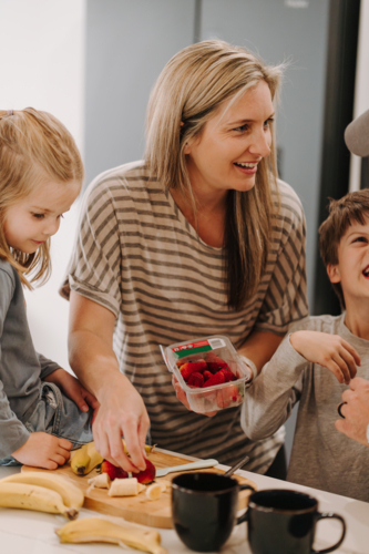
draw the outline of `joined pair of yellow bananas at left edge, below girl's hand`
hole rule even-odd
[[[83,492],[54,473],[29,471],[0,480],[1,507],[35,510],[75,520],[83,502]]]

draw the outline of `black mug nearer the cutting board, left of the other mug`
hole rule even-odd
[[[188,548],[218,551],[232,533],[237,519],[238,492],[254,491],[234,478],[221,473],[182,473],[172,481],[172,517],[174,529]]]

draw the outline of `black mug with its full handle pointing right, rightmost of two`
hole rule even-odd
[[[346,534],[344,517],[318,512],[318,501],[298,491],[275,489],[254,492],[245,515],[253,554],[325,554],[338,548]],[[329,548],[315,551],[316,523],[325,519],[339,520],[342,533]]]

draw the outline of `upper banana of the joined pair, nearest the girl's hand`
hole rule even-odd
[[[24,473],[16,473],[2,479],[0,481],[0,484],[1,483],[25,483],[43,486],[58,492],[63,499],[63,503],[66,507],[79,509],[83,506],[83,492],[71,481],[48,471],[27,471]]]

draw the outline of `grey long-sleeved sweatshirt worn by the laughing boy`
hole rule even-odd
[[[349,331],[345,314],[305,318],[289,332],[300,329],[342,337],[361,358],[357,377],[369,380],[369,341]],[[337,407],[347,388],[328,369],[296,352],[287,336],[247,389],[242,425],[252,440],[269,437],[299,401],[287,480],[369,502],[369,445],[335,428]]]

